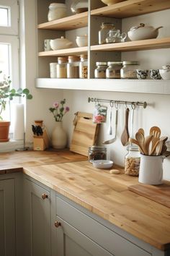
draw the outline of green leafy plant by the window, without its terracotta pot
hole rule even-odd
[[[0,82],[0,120],[3,120],[1,114],[6,109],[6,103],[12,101],[14,97],[26,97],[27,100],[32,99],[32,95],[27,88],[23,90],[22,88],[19,88],[18,90],[11,89],[11,83],[12,80],[10,80],[10,77],[5,76],[4,80]]]

